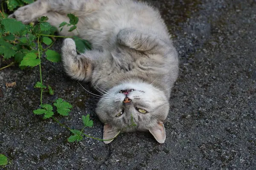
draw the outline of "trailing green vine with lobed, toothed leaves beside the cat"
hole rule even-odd
[[[23,6],[25,3],[32,2],[34,2],[34,0],[6,0],[7,7],[10,11],[13,11],[19,6]],[[73,38],[76,42],[77,51],[80,53],[84,52],[84,50],[90,50],[90,43],[79,37],[54,35],[57,28],[52,27],[47,23],[48,17],[45,16],[38,18],[37,24],[31,23],[29,25],[24,25],[15,19],[6,18],[7,14],[3,10],[3,3],[0,15],[0,56],[6,61],[10,59],[14,60],[3,68],[7,68],[14,64],[19,65],[21,69],[38,67],[40,81],[36,82],[34,87],[39,88],[41,91],[41,108],[34,110],[33,113],[36,115],[43,115],[43,119],[51,118],[55,122],[58,122],[59,125],[66,127],[54,117],[54,114],[57,112],[61,116],[68,116],[72,105],[60,98],[56,99],[53,105],[43,103],[43,93],[47,92],[50,95],[53,95],[54,91],[50,85],[46,86],[43,84],[41,63],[45,60],[51,62],[61,61],[61,55],[58,52],[49,49],[55,43],[55,38]],[[69,31],[74,31],[77,28],[76,24],[79,22],[79,18],[73,14],[67,14],[67,17],[69,17],[70,23],[63,22],[60,24],[59,28],[62,30],[64,26],[71,26]],[[77,29],[76,31],[78,32]],[[45,58],[42,57],[44,54],[46,56]],[[3,68],[0,68],[0,70]],[[82,116],[82,120],[84,128],[93,126],[93,121],[90,120],[89,114],[87,116]],[[134,125],[132,118],[131,126]],[[97,139],[83,133],[84,128],[82,130],[71,129],[69,127],[66,128],[73,133],[73,135],[68,138],[68,142],[79,142],[83,139],[83,136],[103,141],[103,139]]]

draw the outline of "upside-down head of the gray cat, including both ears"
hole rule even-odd
[[[146,83],[124,83],[111,88],[96,108],[105,124],[103,139],[112,139],[120,131],[149,130],[160,143],[166,138],[163,121],[168,112],[169,102],[163,91]]]

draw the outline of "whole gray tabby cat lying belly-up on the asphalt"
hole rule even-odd
[[[64,27],[60,34],[89,40],[93,50],[77,54],[75,42],[65,39],[64,70],[102,92],[96,113],[104,123],[103,139],[112,139],[120,131],[149,130],[163,143],[178,57],[159,12],[132,0],[37,0],[10,17],[29,23],[48,16],[48,22],[58,28],[69,21],[69,13],[79,17],[79,33]],[[131,115],[137,126],[128,127]]]

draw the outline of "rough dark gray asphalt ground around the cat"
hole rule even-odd
[[[160,9],[180,57],[180,76],[165,122],[166,142],[149,133],[124,133],[111,144],[93,139],[68,143],[70,132],[36,116],[38,68],[0,71],[0,153],[6,170],[255,170],[256,169],[256,1],[151,0]],[[61,45],[61,40],[59,40]],[[53,48],[59,50],[60,46]],[[44,84],[73,110],[61,122],[81,128],[96,99],[64,74],[61,64],[44,62]],[[7,88],[6,82],[17,85]],[[85,85],[89,89],[89,85]]]

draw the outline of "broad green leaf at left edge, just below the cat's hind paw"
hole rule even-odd
[[[18,32],[21,32],[26,28],[23,23],[13,18],[4,18],[1,21],[1,24],[4,26],[5,31],[12,34],[17,34]]]

